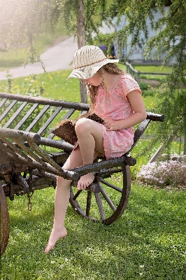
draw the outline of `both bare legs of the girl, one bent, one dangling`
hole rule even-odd
[[[86,121],[87,120],[87,121]],[[73,150],[64,164],[65,169],[73,169],[81,165],[87,165],[94,161],[99,153],[103,151],[103,132],[99,123],[92,120],[81,119],[76,125],[79,146]],[[84,189],[92,183],[94,174],[86,174],[78,181],[78,189]],[[55,218],[50,239],[45,248],[45,253],[52,250],[59,238],[67,235],[64,227],[64,218],[70,197],[70,180],[57,177],[57,188],[55,192]]]

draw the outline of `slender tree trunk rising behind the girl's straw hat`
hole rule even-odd
[[[77,34],[78,34],[78,48],[85,45],[85,18],[83,0],[79,0],[77,12]],[[80,102],[87,103],[87,91],[85,83],[80,80]]]

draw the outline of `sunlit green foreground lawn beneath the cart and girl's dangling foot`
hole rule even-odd
[[[127,210],[109,226],[68,207],[68,235],[45,255],[55,190],[8,200],[10,239],[1,258],[1,280],[185,279],[186,193],[133,185]]]

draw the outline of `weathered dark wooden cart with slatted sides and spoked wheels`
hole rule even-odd
[[[99,158],[92,165],[65,170],[62,166],[73,146],[57,139],[49,127],[88,110],[87,104],[0,93],[1,255],[6,250],[10,229],[6,197],[13,200],[15,195],[26,194],[31,210],[31,195],[35,190],[55,188],[56,176],[73,181],[70,203],[81,216],[106,225],[122,216],[130,194],[130,166],[136,164],[129,153],[150,121],[163,121],[164,117],[148,113],[135,132],[134,145],[122,157]],[[94,172],[94,182],[86,190],[78,191],[78,179],[89,172]],[[94,211],[92,205],[96,205]]]

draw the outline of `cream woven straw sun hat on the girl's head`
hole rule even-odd
[[[103,65],[115,62],[119,59],[108,59],[96,45],[85,45],[73,55],[74,69],[69,78],[91,78]]]

